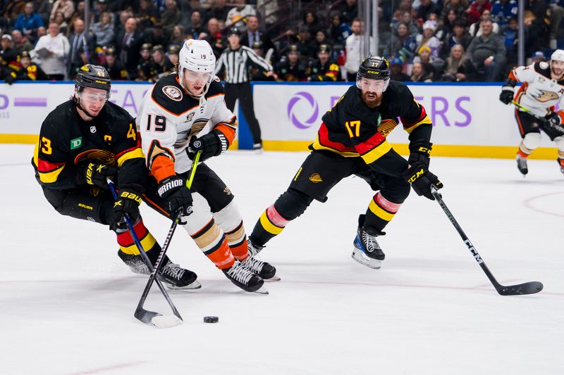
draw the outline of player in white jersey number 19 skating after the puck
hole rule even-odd
[[[204,163],[198,165],[191,189],[186,186],[195,153],[201,151],[204,161],[225,152],[235,137],[237,119],[214,76],[212,47],[188,40],[179,58],[176,72],[147,92],[136,119],[154,177],[145,200],[167,217],[182,210],[180,225],[216,267],[245,291],[259,291],[263,278],[274,277],[276,269],[250,255],[231,190]]]

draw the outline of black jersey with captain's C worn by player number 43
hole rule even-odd
[[[120,167],[120,186],[145,182],[145,158],[126,110],[107,102],[94,120],[85,121],[69,100],[47,115],[32,160],[39,184],[51,189],[78,187],[78,165],[87,160]]]

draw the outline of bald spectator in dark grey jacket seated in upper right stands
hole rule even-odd
[[[493,28],[490,20],[482,21],[482,35],[472,39],[467,51],[468,58],[478,71],[477,77],[484,73],[486,82],[498,80],[505,65],[505,44],[493,33]]]

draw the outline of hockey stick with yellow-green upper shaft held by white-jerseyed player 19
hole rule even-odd
[[[190,189],[190,187],[192,186],[192,181],[194,181],[194,174],[196,173],[196,167],[198,166],[198,162],[200,161],[200,153],[202,153],[202,151],[198,151],[198,153],[194,158],[194,161],[192,162],[192,171],[190,172],[190,178],[188,179],[188,182],[186,182],[186,186],[188,186],[188,189]],[[168,250],[168,245],[171,243],[172,236],[174,234],[174,231],[176,231],[176,226],[178,225],[179,220],[180,220],[180,210],[178,210],[178,212],[176,212],[176,214],[173,217],[171,229],[168,230],[168,234],[166,235],[166,239],[164,240],[163,246],[161,248],[161,253],[159,254],[159,258],[157,258],[157,263],[155,264],[154,269],[152,270],[149,276],[149,281],[147,281],[147,286],[145,286],[145,290],[141,295],[141,299],[137,304],[137,308],[135,309],[135,314],[134,314],[135,317],[139,319],[141,322],[145,324],[153,324],[154,326],[157,326],[159,328],[164,328],[166,326],[163,327],[157,325],[157,324],[161,324],[160,322],[161,318],[159,318],[159,315],[155,316],[154,312],[145,310],[143,308],[143,304],[145,304],[145,300],[147,299],[147,295],[149,295],[149,291],[151,290],[153,281],[155,280],[156,275],[158,274],[159,270],[163,265],[164,255],[166,253],[166,250]],[[157,322],[155,322],[155,319],[157,319]]]

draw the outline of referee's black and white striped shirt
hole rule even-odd
[[[226,48],[216,65],[215,74],[221,75],[226,72],[225,82],[231,84],[249,82],[249,68],[253,66],[262,70],[272,70],[272,66],[257,56],[257,53],[247,46],[238,49]]]

